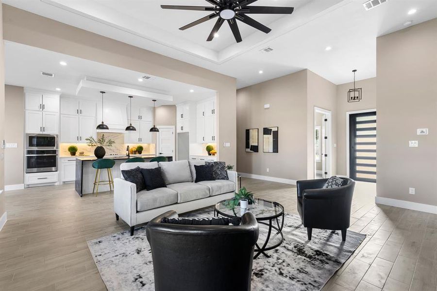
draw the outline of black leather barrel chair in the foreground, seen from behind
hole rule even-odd
[[[177,218],[167,211],[146,227],[155,291],[250,291],[258,223],[252,213],[240,226],[190,226],[161,223]]]

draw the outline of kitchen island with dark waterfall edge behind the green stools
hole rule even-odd
[[[150,162],[151,159],[155,158],[155,155],[130,155],[130,157],[125,155],[119,156],[105,156],[104,159],[113,159],[116,163],[114,167],[111,169],[113,178],[120,178],[120,164],[126,162],[130,158],[134,157],[142,157],[145,162]],[[172,161],[172,157],[167,157],[169,162]],[[98,159],[94,156],[88,157],[76,157],[76,181],[75,181],[75,190],[76,193],[81,197],[83,194],[93,193],[94,186],[94,178],[96,177],[97,169],[94,169],[92,164]],[[106,171],[101,171],[100,179],[107,180]],[[109,191],[109,185],[99,185],[99,192]]]

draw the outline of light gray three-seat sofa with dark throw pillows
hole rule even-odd
[[[176,162],[132,162],[120,164],[120,170],[161,167],[167,188],[136,193],[136,185],[123,176],[114,179],[114,211],[117,220],[121,218],[131,226],[149,222],[168,210],[178,213],[211,206],[218,201],[234,197],[238,189],[237,173],[228,171],[229,180],[202,181],[195,183],[194,165],[203,161]]]

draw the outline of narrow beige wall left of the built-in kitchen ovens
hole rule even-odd
[[[16,148],[6,148],[4,166],[5,185],[23,184],[24,173],[24,88],[4,86],[5,119],[10,122],[4,129],[6,143],[16,143]]]

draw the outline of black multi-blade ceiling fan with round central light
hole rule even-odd
[[[225,20],[228,21],[229,27],[234,34],[237,43],[241,42],[241,34],[238,29],[236,20],[246,23],[262,32],[269,33],[269,29],[264,24],[259,23],[255,19],[247,16],[247,14],[291,14],[293,13],[293,7],[269,7],[269,6],[248,6],[257,0],[205,0],[214,5],[214,7],[205,6],[178,6],[178,5],[161,5],[163,9],[178,9],[178,10],[197,10],[197,11],[211,11],[208,16],[202,17],[190,24],[187,24],[180,28],[180,30],[186,30],[195,25],[201,24],[210,19],[216,18],[217,22],[214,25],[211,33],[206,41],[212,41],[214,36],[220,29]]]

